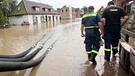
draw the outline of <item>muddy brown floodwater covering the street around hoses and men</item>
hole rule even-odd
[[[0,54],[21,53],[38,42],[43,49],[33,58],[40,57],[55,41],[44,60],[32,68],[0,72],[0,76],[128,76],[120,66],[119,56],[104,60],[103,46],[96,57],[97,65],[91,64],[85,52],[84,38],[80,36],[80,19],[63,20],[30,26],[12,26],[0,29]]]

